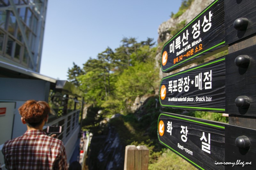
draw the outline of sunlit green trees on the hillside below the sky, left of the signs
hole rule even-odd
[[[68,80],[84,92],[87,104],[102,108],[106,116],[120,113],[127,100],[157,89],[154,45],[152,38],[138,42],[124,37],[118,48],[106,48],[96,58],[89,58],[82,69],[73,63]]]

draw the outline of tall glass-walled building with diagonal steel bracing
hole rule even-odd
[[[47,0],[0,0],[0,62],[38,72]]]

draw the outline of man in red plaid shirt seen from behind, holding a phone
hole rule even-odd
[[[6,169],[68,169],[63,142],[43,131],[50,113],[48,103],[28,100],[18,110],[27,131],[4,143]]]

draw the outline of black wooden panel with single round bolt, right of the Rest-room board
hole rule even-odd
[[[236,138],[249,138],[250,148],[236,146]],[[256,167],[256,130],[233,125],[225,126],[225,163],[226,169],[255,169]]]

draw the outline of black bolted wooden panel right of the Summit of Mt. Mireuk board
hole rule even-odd
[[[255,0],[225,0],[225,34],[226,44],[231,44],[244,37],[256,33],[256,1]],[[248,25],[243,30],[234,28],[234,21],[247,18]]]

